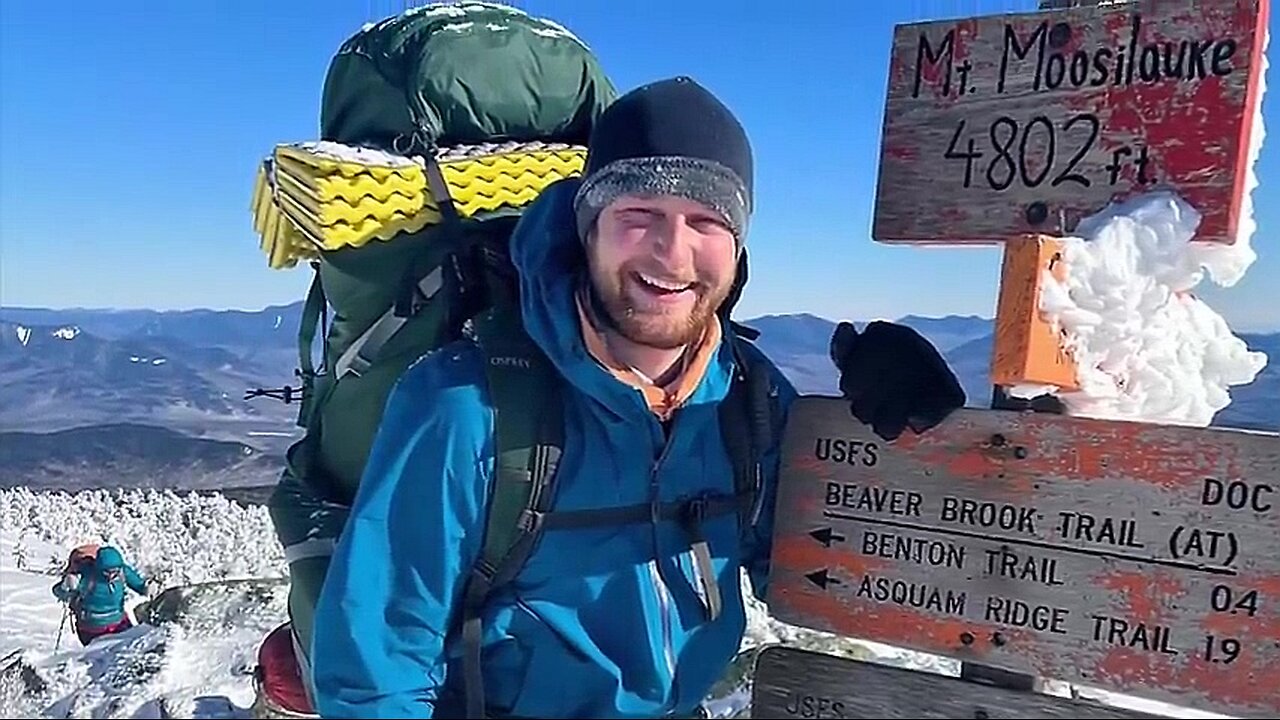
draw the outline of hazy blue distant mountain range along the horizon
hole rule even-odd
[[[0,486],[270,482],[300,433],[297,405],[244,392],[297,387],[301,310],[0,309]],[[991,319],[897,322],[943,352],[969,405],[989,405]],[[800,392],[838,392],[835,323],[808,314],[744,323]],[[1280,333],[1242,337],[1270,361],[1254,383],[1231,389],[1215,424],[1280,430]],[[91,429],[50,434],[73,428]]]

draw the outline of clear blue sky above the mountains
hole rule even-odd
[[[340,42],[412,4],[0,3],[0,305],[301,299],[310,270],[269,270],[257,249],[253,172],[273,145],[315,138]],[[995,314],[998,249],[870,240],[886,69],[895,23],[1036,0],[512,4],[582,37],[622,90],[690,74],[740,115],[759,204],[741,316]],[[1277,101],[1265,100],[1268,124]],[[1258,261],[1234,288],[1201,288],[1236,329],[1280,328],[1277,145],[1258,165]]]

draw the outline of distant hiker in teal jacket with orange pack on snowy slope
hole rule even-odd
[[[65,602],[72,612],[76,634],[81,644],[95,638],[119,633],[133,626],[124,612],[125,588],[146,594],[142,575],[124,562],[120,551],[102,546],[91,555],[82,546],[72,551],[61,579],[54,585],[54,596]]]

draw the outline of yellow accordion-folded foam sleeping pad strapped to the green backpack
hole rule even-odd
[[[525,142],[457,146],[438,155],[462,218],[522,208],[582,172],[586,149]],[[335,142],[278,145],[257,168],[253,231],[271,268],[321,251],[388,241],[439,223],[421,158]]]

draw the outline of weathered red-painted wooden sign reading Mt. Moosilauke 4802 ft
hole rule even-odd
[[[1234,242],[1267,0],[1135,0],[895,28],[872,236],[1000,243],[1178,191]],[[928,199],[928,201],[922,201]]]

